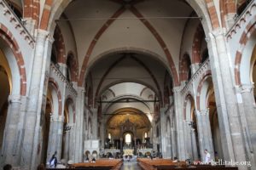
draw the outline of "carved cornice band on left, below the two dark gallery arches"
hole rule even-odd
[[[55,75],[57,77],[60,78],[61,82],[65,82],[67,85],[66,85],[66,88],[69,89],[71,91],[71,93],[77,97],[78,93],[77,91],[73,88],[73,83],[72,82],[69,82],[67,81],[67,77],[65,77],[61,71],[59,69],[57,69],[57,67],[54,65],[54,64],[50,64],[50,70],[55,73]]]

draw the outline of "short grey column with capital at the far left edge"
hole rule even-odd
[[[9,107],[3,132],[1,153],[3,164],[9,163],[15,167],[19,166],[20,157],[20,99],[20,95],[9,95]]]

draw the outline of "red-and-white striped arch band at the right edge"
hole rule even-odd
[[[247,44],[247,41],[252,36],[253,32],[255,31],[256,26],[256,16],[253,17],[253,20],[251,20],[247,26],[245,31],[242,32],[240,40],[239,40],[239,48],[236,51],[236,58],[235,58],[235,81],[236,85],[241,85],[241,73],[240,73],[240,65],[241,65],[241,56],[242,52]]]

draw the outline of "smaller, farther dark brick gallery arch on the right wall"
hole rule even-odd
[[[189,66],[191,65],[189,54],[183,54],[182,59],[180,60],[180,70],[179,70],[179,77],[180,81],[187,81],[189,78]]]

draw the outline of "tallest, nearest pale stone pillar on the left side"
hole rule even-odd
[[[28,82],[30,91],[26,110],[24,135],[21,144],[21,168],[36,169],[41,161],[41,114],[45,101],[45,87],[47,88],[50,51],[52,39],[49,32],[37,30],[35,54],[32,58],[31,82]]]

